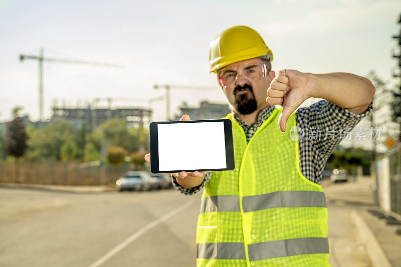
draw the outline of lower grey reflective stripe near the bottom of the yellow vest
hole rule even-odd
[[[197,243],[197,258],[245,259],[244,243]],[[274,240],[248,245],[249,260],[329,253],[327,237]]]

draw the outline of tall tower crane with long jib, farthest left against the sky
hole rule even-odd
[[[55,62],[55,63],[69,63],[69,64],[85,64],[92,66],[104,66],[104,67],[113,67],[113,68],[124,68],[123,65],[118,64],[109,64],[109,63],[100,63],[100,62],[89,62],[83,60],[67,60],[67,59],[55,59],[55,58],[45,58],[44,57],[44,49],[39,49],[39,55],[24,55],[20,54],[20,61],[24,61],[26,59],[36,60],[39,63],[39,120],[43,121],[43,63],[44,62]]]

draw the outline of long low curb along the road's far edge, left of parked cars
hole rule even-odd
[[[115,191],[107,186],[88,187],[73,186],[73,185],[43,185],[43,184],[15,184],[15,183],[0,183],[0,188],[18,188],[18,189],[33,189],[52,192],[64,193],[103,193]]]

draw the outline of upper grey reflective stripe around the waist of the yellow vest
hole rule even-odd
[[[240,211],[238,195],[218,195],[202,199],[200,213],[214,211]],[[277,191],[268,194],[244,196],[244,212],[266,208],[283,207],[327,207],[323,192],[318,191]]]

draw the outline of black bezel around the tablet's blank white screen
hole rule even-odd
[[[166,123],[198,123],[198,122],[223,122],[224,137],[226,142],[226,166],[223,169],[200,169],[200,170],[169,170],[159,171],[159,150],[157,125]],[[212,120],[189,120],[189,121],[154,121],[149,124],[149,143],[150,143],[150,171],[152,173],[175,173],[180,171],[231,171],[235,169],[233,129],[230,119],[212,119]]]

